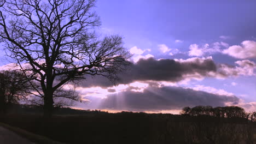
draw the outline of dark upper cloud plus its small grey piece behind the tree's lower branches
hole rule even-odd
[[[210,71],[216,71],[216,64],[211,58],[201,59],[194,58],[192,61],[174,61],[173,59],[154,58],[140,59],[137,63],[119,74],[117,83],[127,84],[134,81],[170,81],[177,82],[184,80],[188,75],[194,77],[206,76]],[[82,82],[83,87],[110,87],[113,83],[103,76],[89,76],[88,79]]]

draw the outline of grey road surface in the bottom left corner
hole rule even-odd
[[[34,144],[29,140],[15,134],[13,131],[0,126],[0,143],[1,144]]]

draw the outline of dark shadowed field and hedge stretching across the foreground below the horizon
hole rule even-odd
[[[216,118],[148,113],[88,112],[59,115],[9,114],[1,122],[65,143],[253,143],[254,123]]]

